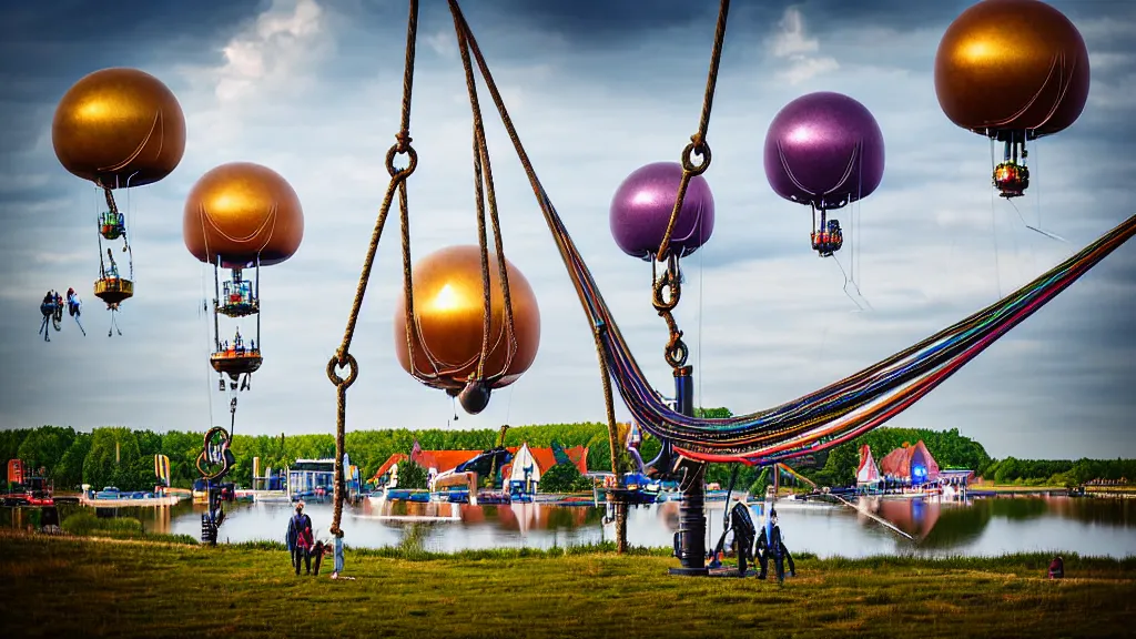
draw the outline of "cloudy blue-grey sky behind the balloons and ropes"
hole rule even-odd
[[[241,398],[237,432],[333,432],[335,391],[324,366],[342,338],[386,185],[406,3],[83,5],[2,3],[0,428],[227,422],[207,363],[211,322],[198,310],[212,273],[185,250],[181,219],[201,174],[248,160],[292,183],[307,226],[299,252],[264,273],[265,365]],[[1034,184],[1017,209],[992,201],[988,142],[955,127],[935,98],[938,40],[968,5],[734,3],[705,175],[716,235],[685,260],[677,314],[699,404],[749,413],[812,391],[994,301],[1136,213],[1136,5],[1054,2],[1086,40],[1092,91],[1076,125],[1031,148]],[[608,207],[628,173],[677,160],[694,132],[717,2],[478,0],[465,10],[542,181],[640,363],[669,393],[650,266],[616,247]],[[476,223],[468,102],[444,2],[423,2],[419,39],[411,134],[420,165],[409,189],[420,257],[475,243]],[[114,339],[91,294],[99,197],[59,165],[50,135],[64,92],[110,66],[161,78],[189,131],[174,174],[119,194],[133,225],[137,297],[124,305],[124,337]],[[762,169],[769,122],[821,90],[864,103],[887,143],[884,182],[854,209],[857,233],[840,254],[845,269],[855,256],[862,294],[852,297],[862,312],[840,266],[809,248],[808,209],[774,194]],[[450,428],[602,421],[588,324],[520,164],[486,114],[506,252],[536,291],[542,343],[524,379]],[[842,213],[845,229],[850,215]],[[349,428],[445,428],[450,399],[410,379],[393,356],[401,273],[398,226],[387,229],[352,347],[360,379]],[[1000,457],[1136,456],[1134,277],[1136,246],[1124,247],[892,424],[958,428]],[[40,298],[67,287],[84,296],[87,335],[68,318],[43,343]]]

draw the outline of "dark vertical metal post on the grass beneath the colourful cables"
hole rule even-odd
[[[675,409],[688,417],[694,416],[694,377],[693,366],[683,366],[675,371]],[[680,567],[670,569],[670,574],[701,576],[709,574],[707,561],[707,516],[705,516],[705,470],[701,462],[684,459],[682,467],[686,471],[683,478],[683,500],[678,506],[678,561]]]

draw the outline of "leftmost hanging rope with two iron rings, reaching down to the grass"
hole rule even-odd
[[[410,96],[411,88],[414,84],[414,68],[415,68],[415,43],[418,35],[418,0],[410,0],[410,16],[407,20],[407,53],[406,53],[406,66],[402,76],[402,121],[399,133],[395,135],[395,144],[386,152],[386,171],[391,175],[391,183],[386,188],[386,194],[383,197],[383,205],[379,208],[378,218],[375,221],[375,230],[371,232],[370,244],[367,247],[367,257],[364,259],[362,273],[359,276],[359,285],[356,288],[354,301],[351,305],[351,313],[348,315],[348,325],[343,331],[343,342],[340,348],[336,349],[335,355],[332,356],[331,360],[327,363],[327,379],[335,385],[336,389],[336,416],[335,416],[335,487],[334,487],[334,500],[335,509],[332,514],[332,525],[331,532],[335,537],[342,537],[343,530],[340,528],[340,522],[343,518],[343,499],[344,499],[344,479],[343,479],[343,455],[345,448],[345,422],[346,422],[346,400],[348,400],[348,389],[354,383],[356,379],[359,376],[359,363],[356,360],[354,356],[350,354],[351,339],[354,337],[356,325],[359,322],[359,310],[362,308],[362,299],[367,292],[367,283],[370,281],[370,272],[375,266],[375,254],[378,251],[378,241],[383,236],[383,226],[386,224],[386,216],[391,211],[391,204],[394,200],[394,190],[399,190],[399,205],[403,213],[403,219],[406,219],[407,210],[407,179],[410,174],[415,172],[415,167],[418,165],[418,153],[415,151],[414,147],[410,146]],[[406,153],[409,160],[408,166],[404,168],[394,167],[394,157],[399,153]],[[407,238],[407,229],[403,226],[403,238]],[[407,280],[407,297],[410,297],[410,267],[409,267],[410,247],[409,242],[403,242],[403,264],[404,264],[404,276]],[[411,308],[408,304],[407,306],[408,320],[410,318],[409,313]],[[409,322],[408,322],[409,326]],[[411,351],[411,357],[414,352]],[[348,370],[346,377],[339,375],[336,370]]]

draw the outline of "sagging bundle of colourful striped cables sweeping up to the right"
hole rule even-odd
[[[543,186],[538,192],[584,310],[600,332],[608,368],[634,418],[704,462],[771,464],[824,450],[877,428],[974,359],[1136,234],[1136,216],[1012,294],[914,346],[776,408],[727,418],[690,417],[649,384]]]

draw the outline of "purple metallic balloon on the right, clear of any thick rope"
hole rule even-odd
[[[787,200],[840,208],[879,186],[884,134],[871,113],[847,96],[802,96],[769,125],[766,177]]]

